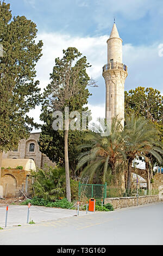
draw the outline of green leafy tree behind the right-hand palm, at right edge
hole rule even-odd
[[[143,117],[156,126],[159,130],[159,147],[163,148],[163,96],[159,90],[153,88],[137,87],[135,90],[125,92],[125,110],[126,116],[132,113],[137,117]],[[158,159],[151,154],[147,154],[141,159],[146,163],[147,186],[151,190],[151,178],[153,168],[159,165]]]

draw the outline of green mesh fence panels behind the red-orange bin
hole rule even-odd
[[[90,198],[105,199],[106,183],[103,184],[83,184],[79,182],[79,201]]]

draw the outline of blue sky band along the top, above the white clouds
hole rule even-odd
[[[9,0],[13,15],[33,20],[39,32],[79,36],[110,33],[114,20],[125,43],[149,44],[162,39],[162,0]]]

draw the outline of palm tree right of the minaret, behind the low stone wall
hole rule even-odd
[[[127,192],[130,191],[132,163],[135,157],[146,159],[151,154],[161,163],[163,150],[159,147],[157,138],[159,131],[155,125],[143,117],[136,118],[134,114],[126,118],[126,126],[122,134],[124,153],[127,159]]]

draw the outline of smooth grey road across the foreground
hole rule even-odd
[[[163,245],[163,203],[0,230],[0,245]]]

